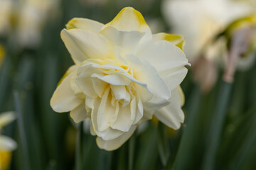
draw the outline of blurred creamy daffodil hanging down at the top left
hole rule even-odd
[[[18,44],[22,47],[36,47],[41,41],[41,32],[46,21],[58,13],[59,0],[19,0],[15,4],[18,5]]]

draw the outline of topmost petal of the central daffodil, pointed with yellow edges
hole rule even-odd
[[[151,33],[151,30],[146,24],[142,13],[132,7],[123,8],[122,11],[120,11],[110,23],[105,25],[105,27],[107,26],[113,26],[119,30],[137,30],[140,32]]]

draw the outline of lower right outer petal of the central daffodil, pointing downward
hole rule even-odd
[[[160,108],[154,115],[162,123],[177,130],[181,127],[184,120],[184,113],[181,109],[183,105],[183,94],[178,88],[171,91],[171,103],[164,108]]]

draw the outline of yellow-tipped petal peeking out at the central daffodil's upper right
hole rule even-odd
[[[181,50],[184,49],[184,45],[185,45],[185,39],[183,38],[183,36],[176,35],[176,34],[168,34],[168,33],[154,34],[153,40],[154,41],[159,41],[159,40],[169,41],[169,42],[171,42],[171,44],[176,45]]]

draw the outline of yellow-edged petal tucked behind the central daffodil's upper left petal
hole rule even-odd
[[[103,26],[104,24],[87,18],[73,18],[72,20],[68,21],[66,27],[67,30],[80,28],[82,30],[87,30],[88,32],[98,33]]]

